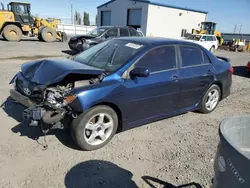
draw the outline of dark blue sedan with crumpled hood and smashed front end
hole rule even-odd
[[[10,96],[44,130],[69,128],[84,150],[117,131],[199,110],[227,97],[233,69],[195,43],[147,37],[102,42],[71,59],[23,64]],[[68,123],[66,123],[68,122]]]

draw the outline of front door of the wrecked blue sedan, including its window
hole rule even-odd
[[[135,65],[150,70],[147,78],[128,78],[124,81],[127,100],[126,119],[129,123],[147,120],[173,112],[179,101],[179,70],[174,46],[149,51]]]

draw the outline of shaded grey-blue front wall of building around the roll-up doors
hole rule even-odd
[[[141,31],[146,33],[147,26],[147,15],[148,15],[147,3],[136,2],[128,0],[116,0],[106,6],[98,8],[97,25],[101,25],[101,11],[111,11],[111,25],[113,26],[126,26],[127,25],[127,9],[141,8],[142,9],[142,21],[141,21]]]

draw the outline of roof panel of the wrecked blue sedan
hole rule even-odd
[[[199,46],[193,42],[172,38],[161,38],[161,37],[121,37],[116,40],[126,40],[129,42],[140,43],[149,46],[160,46],[168,44],[187,44],[192,46]]]

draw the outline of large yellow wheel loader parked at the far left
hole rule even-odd
[[[66,41],[64,32],[56,31],[58,20],[46,20],[31,16],[30,3],[11,2],[8,10],[0,10],[0,34],[7,41],[20,41],[22,35],[37,36],[39,40],[54,42]]]

